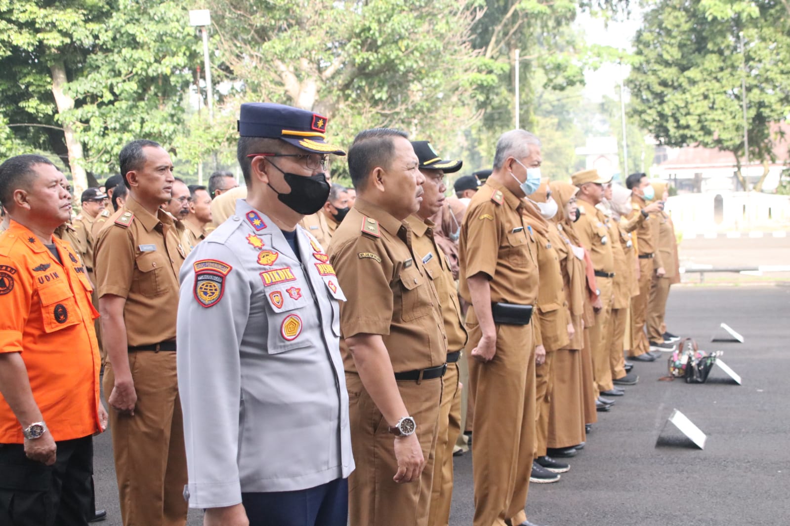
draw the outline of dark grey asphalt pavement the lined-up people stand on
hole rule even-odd
[[[598,413],[570,472],[558,483],[531,485],[529,519],[551,526],[790,523],[788,320],[790,285],[673,288],[669,330],[701,349],[723,350],[743,385],[717,368],[703,385],[660,382],[666,358],[638,363],[638,385],[626,387],[611,412]],[[711,343],[722,322],[745,342]],[[705,450],[665,426],[674,408],[705,432]],[[120,526],[108,433],[96,438],[94,464],[96,502],[109,514],[100,524]],[[470,526],[472,455],[456,457],[455,469],[450,524]],[[189,524],[201,524],[199,512],[190,510]]]

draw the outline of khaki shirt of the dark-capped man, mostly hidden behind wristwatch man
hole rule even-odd
[[[434,237],[434,223],[430,219],[423,221],[416,215],[410,215],[406,218],[406,222],[412,228],[414,252],[433,277],[442,308],[447,352],[460,351],[466,345],[467,335],[461,319],[461,304],[458,302],[458,291],[453,280],[450,259],[438,247]]]

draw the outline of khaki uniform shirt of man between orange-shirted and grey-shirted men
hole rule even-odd
[[[175,340],[179,270],[186,252],[171,215],[145,210],[133,197],[96,242],[99,297],[126,298],[128,345]]]

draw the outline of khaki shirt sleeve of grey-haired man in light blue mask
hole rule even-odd
[[[498,205],[486,201],[468,211],[466,218],[466,267],[465,278],[483,272],[488,278],[496,274],[502,224],[497,213]]]

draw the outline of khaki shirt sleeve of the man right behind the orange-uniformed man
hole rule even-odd
[[[93,257],[99,297],[106,294],[129,297],[134,276],[134,244],[129,230],[121,226],[103,229]]]

